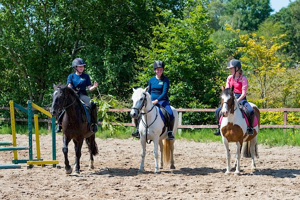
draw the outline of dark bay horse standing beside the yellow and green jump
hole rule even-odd
[[[95,133],[91,132],[88,128],[87,117],[79,96],[75,90],[67,85],[53,85],[53,87],[54,92],[52,94],[50,113],[52,116],[56,116],[61,109],[65,109],[62,119],[62,152],[64,154],[65,173],[70,174],[72,172],[72,168],[67,159],[67,145],[71,139],[73,140],[75,147],[75,165],[73,174],[79,174],[79,159],[84,138],[90,153],[88,168],[93,169],[93,155],[98,153],[98,148],[95,142]]]

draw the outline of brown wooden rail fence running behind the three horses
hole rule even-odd
[[[9,107],[0,107],[0,109],[9,109]],[[216,128],[217,125],[182,125],[182,112],[214,112],[215,108],[176,108],[179,114],[178,128]],[[110,112],[130,112],[130,108],[113,108],[108,109]],[[283,111],[283,124],[280,125],[268,125],[262,124],[260,127],[262,128],[300,128],[300,125],[289,125],[287,124],[287,112],[288,111],[300,111],[300,108],[260,108],[260,112],[268,112],[268,111]],[[0,120],[10,120],[10,118],[0,118]],[[27,121],[27,119],[16,118],[15,121]],[[49,122],[47,119],[38,119],[40,122]],[[101,124],[101,122],[98,122]],[[112,123],[116,125],[116,123]],[[134,126],[133,120],[131,123],[121,123],[124,126]]]

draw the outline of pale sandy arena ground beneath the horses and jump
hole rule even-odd
[[[34,135],[33,135],[34,138]],[[27,145],[26,135],[17,135],[19,146]],[[0,141],[11,135],[0,135]],[[250,159],[241,158],[241,175],[225,175],[225,151],[219,142],[175,141],[175,167],[166,164],[153,174],[153,144],[147,144],[145,173],[138,174],[140,142],[129,139],[96,139],[99,154],[94,170],[88,170],[85,143],[80,159],[80,175],[64,173],[62,136],[56,135],[56,159],[61,168],[22,164],[18,169],[0,169],[0,199],[299,199],[300,147],[259,145],[255,171]],[[35,150],[35,140],[33,141]],[[40,136],[41,157],[51,159],[51,136]],[[230,143],[231,164],[234,143]],[[33,156],[36,152],[33,151]],[[18,158],[28,158],[26,150]],[[0,151],[0,163],[11,163],[12,151]],[[69,160],[74,163],[73,142]]]

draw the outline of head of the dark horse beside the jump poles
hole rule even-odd
[[[52,116],[56,116],[60,109],[67,103],[67,86],[53,84],[54,92],[52,93],[52,105],[50,113]]]

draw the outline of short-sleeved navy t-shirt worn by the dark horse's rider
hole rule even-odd
[[[89,75],[86,73],[81,73],[80,75],[77,75],[76,73],[69,74],[66,84],[68,83],[71,83],[73,89],[77,87],[84,91],[87,86],[91,85]]]

